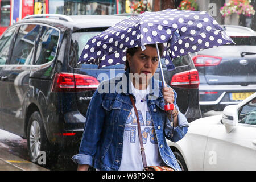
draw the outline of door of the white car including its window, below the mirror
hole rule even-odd
[[[236,129],[216,125],[208,135],[205,170],[256,170],[256,98],[241,107]]]

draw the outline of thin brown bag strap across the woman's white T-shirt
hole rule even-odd
[[[133,96],[129,95],[129,97],[130,97],[130,100],[131,100],[131,104],[133,104],[135,115],[136,115],[136,118],[137,118],[139,143],[141,144],[142,163],[143,163],[143,167],[146,168],[147,167],[147,161],[146,161],[145,148],[143,146],[143,140],[142,140],[142,134],[141,134],[141,124],[139,123],[139,114],[138,114],[137,108],[135,106],[135,102],[133,100]]]

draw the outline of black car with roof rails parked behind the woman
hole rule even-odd
[[[47,16],[47,18],[46,18]],[[46,152],[47,164],[58,151],[77,151],[86,110],[104,79],[124,72],[124,65],[97,69],[78,64],[85,43],[125,16],[30,15],[0,38],[0,127],[28,139],[32,162]],[[167,84],[189,121],[200,118],[199,77],[189,56],[165,70]],[[114,69],[114,74],[113,74]]]

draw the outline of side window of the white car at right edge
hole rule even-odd
[[[256,98],[242,107],[238,119],[239,123],[256,125]]]

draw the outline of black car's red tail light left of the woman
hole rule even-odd
[[[56,73],[52,92],[81,92],[97,89],[100,82],[92,76],[73,73]]]

